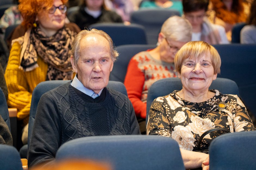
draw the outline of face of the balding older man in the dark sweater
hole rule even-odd
[[[109,74],[113,68],[108,41],[98,35],[90,34],[80,42],[80,57],[77,64],[71,56],[71,63],[78,80],[95,93],[108,85]]]

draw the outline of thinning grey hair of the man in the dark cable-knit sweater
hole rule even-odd
[[[111,37],[104,31],[92,29],[92,30],[80,31],[74,39],[71,52],[72,52],[72,55],[74,56],[75,64],[77,64],[79,56],[80,56],[80,41],[81,41],[81,39],[83,39],[83,37],[85,37],[89,34],[98,34],[98,35],[104,37],[108,41],[109,47],[110,47],[111,60],[113,62],[115,62],[115,60],[117,59],[119,54],[116,50],[114,50],[114,45],[113,45],[113,41],[112,41]]]

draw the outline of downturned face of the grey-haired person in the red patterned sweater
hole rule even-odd
[[[173,63],[175,54],[186,42],[174,41],[162,37],[160,42],[160,59],[167,63]]]

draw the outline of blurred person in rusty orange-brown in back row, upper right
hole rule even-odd
[[[209,20],[222,25],[231,41],[231,30],[236,23],[245,22],[249,14],[249,5],[243,0],[211,0],[207,12]]]

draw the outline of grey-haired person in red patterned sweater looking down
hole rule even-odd
[[[191,33],[192,26],[188,20],[178,16],[170,17],[162,25],[158,46],[152,50],[140,52],[130,60],[124,85],[142,134],[146,132],[148,89],[159,79],[176,77],[174,56],[185,43],[191,41]]]

